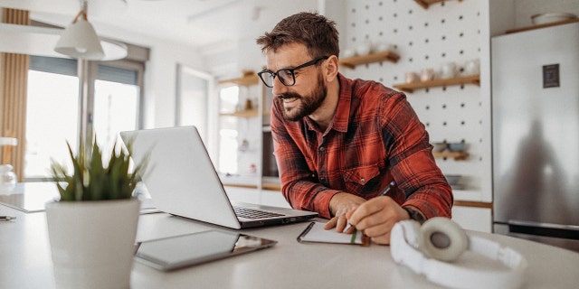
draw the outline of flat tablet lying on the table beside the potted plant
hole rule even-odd
[[[170,271],[272,247],[277,241],[222,230],[160,238],[138,244],[135,259]]]

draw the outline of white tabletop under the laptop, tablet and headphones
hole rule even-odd
[[[0,221],[0,288],[53,288],[45,214],[0,205],[0,215],[16,217]],[[396,265],[390,247],[301,244],[296,238],[307,224],[242,230],[279,243],[175,272],[163,273],[136,262],[131,288],[439,288]],[[223,229],[165,213],[141,215],[138,241],[211,228]],[[468,233],[499,241],[526,256],[525,288],[576,288],[579,284],[579,253],[524,239]],[[474,254],[461,257],[460,262],[481,269],[493,266]]]

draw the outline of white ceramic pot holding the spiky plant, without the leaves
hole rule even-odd
[[[140,200],[46,205],[56,288],[129,288]]]

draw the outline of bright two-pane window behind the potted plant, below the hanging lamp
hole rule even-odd
[[[81,109],[77,61],[31,56],[30,63],[24,152],[26,182],[49,177],[51,159],[68,162],[66,142],[76,152],[81,129],[94,132],[98,143],[110,148],[120,131],[139,127],[142,63],[86,61],[87,79],[92,85],[86,109]]]

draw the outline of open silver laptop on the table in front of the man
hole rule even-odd
[[[195,126],[126,131],[120,136],[125,144],[132,142],[127,146],[135,163],[147,158],[141,178],[158,210],[228,228],[318,217],[316,212],[230,200]],[[243,216],[244,211],[250,215]]]

